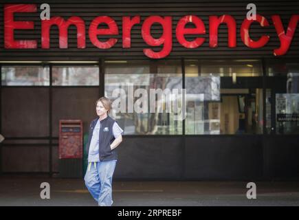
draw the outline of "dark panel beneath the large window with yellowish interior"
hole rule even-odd
[[[262,136],[186,137],[186,178],[251,179],[263,175]]]

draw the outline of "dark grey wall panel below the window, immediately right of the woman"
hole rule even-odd
[[[115,178],[168,179],[181,175],[181,137],[124,137]]]

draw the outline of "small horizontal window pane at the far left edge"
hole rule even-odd
[[[3,66],[1,67],[2,85],[47,86],[49,67],[40,66]]]

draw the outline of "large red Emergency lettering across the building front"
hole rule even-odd
[[[5,4],[4,7],[4,47],[5,49],[36,49],[37,41],[35,40],[15,40],[14,30],[34,30],[33,21],[14,21],[14,13],[37,12],[36,4]],[[277,37],[280,41],[278,48],[274,49],[274,56],[281,56],[287,53],[294,38],[294,33],[299,21],[299,14],[291,16],[287,28],[283,27],[279,15],[273,15],[272,21],[276,30]],[[144,19],[142,23],[141,33],[144,42],[152,47],[145,48],[144,54],[149,58],[164,58],[168,56],[173,48],[173,18],[170,16],[150,16]],[[140,16],[122,17],[122,47],[131,48],[131,31],[134,25],[141,22]],[[241,40],[250,48],[260,48],[269,42],[269,35],[261,34],[258,40],[250,38],[250,28],[252,23],[259,23],[261,28],[268,27],[269,22],[260,14],[256,14],[255,20],[244,19],[241,24]],[[157,23],[162,27],[162,36],[154,38],[151,33],[152,26]],[[195,28],[187,28],[188,23],[192,23]],[[105,24],[108,28],[100,28],[99,25]],[[219,25],[225,24],[228,28],[228,47],[236,47],[236,21],[234,17],[224,14],[220,17],[209,17],[209,46],[211,48],[218,46],[218,30]],[[50,29],[56,25],[59,30],[59,48],[67,49],[67,30],[70,25],[76,26],[77,29],[77,47],[84,49],[86,46],[86,25],[85,21],[80,17],[52,17],[49,20],[41,21],[41,48],[49,49],[50,47]],[[286,31],[285,31],[286,30]],[[179,19],[175,34],[179,44],[186,48],[200,47],[206,39],[206,27],[203,21],[195,15],[186,15]],[[192,41],[187,41],[188,35],[196,36]],[[91,43],[101,50],[107,50],[113,47],[119,39],[118,25],[114,19],[107,16],[96,17],[89,25],[88,35]],[[100,36],[115,36],[110,37],[106,41],[100,41]],[[157,47],[156,50],[153,47]],[[162,49],[161,49],[162,47]]]

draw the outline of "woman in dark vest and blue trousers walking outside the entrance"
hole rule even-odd
[[[122,142],[123,130],[108,113],[111,100],[102,97],[96,101],[98,118],[89,127],[87,142],[88,167],[85,185],[98,206],[111,206],[112,177],[118,159],[115,148]]]

